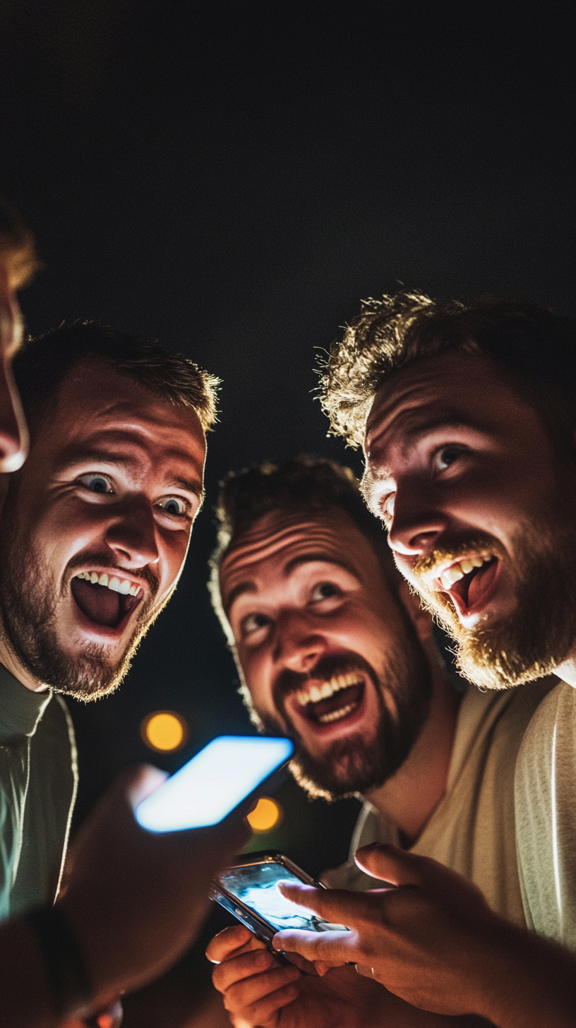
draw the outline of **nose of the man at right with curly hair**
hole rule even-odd
[[[394,514],[388,528],[388,543],[396,553],[411,557],[431,553],[447,522],[447,515],[434,504],[429,486],[397,483]]]

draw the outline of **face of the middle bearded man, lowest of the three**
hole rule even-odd
[[[296,743],[300,783],[343,795],[394,774],[427,718],[430,667],[353,520],[268,514],[220,586],[254,709]]]

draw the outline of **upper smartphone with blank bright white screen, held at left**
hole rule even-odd
[[[220,735],[138,805],[136,820],[148,832],[219,824],[264,782],[267,792],[280,784],[293,748],[289,739]]]

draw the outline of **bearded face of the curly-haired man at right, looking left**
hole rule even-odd
[[[574,466],[497,366],[453,351],[397,372],[365,453],[368,504],[464,672],[504,688],[562,663],[576,634]]]

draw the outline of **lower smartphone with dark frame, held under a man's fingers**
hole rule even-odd
[[[272,850],[237,857],[235,864],[214,880],[211,895],[276,956],[278,951],[273,949],[272,940],[282,928],[350,931],[346,925],[323,921],[318,914],[286,900],[276,887],[281,881],[324,888],[287,856]]]

